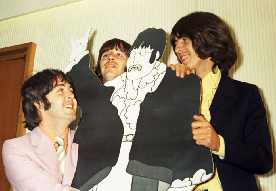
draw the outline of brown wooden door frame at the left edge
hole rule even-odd
[[[11,47],[5,47],[0,49],[0,61],[7,61],[12,59],[18,59],[24,57],[25,61],[25,68],[24,68],[24,79],[27,76],[30,76],[34,68],[34,55],[36,50],[36,44],[33,42],[24,43],[21,45],[15,45]],[[22,123],[25,121],[24,114],[22,111],[22,99],[20,99],[20,107],[18,113],[18,120],[17,120],[17,128],[16,128],[16,137],[23,136],[26,134],[26,128],[24,128],[24,124]]]

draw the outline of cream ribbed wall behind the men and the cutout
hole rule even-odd
[[[182,16],[193,11],[215,13],[231,26],[237,43],[238,61],[230,76],[260,89],[275,153],[275,7],[275,0],[84,0],[0,21],[0,48],[33,41],[37,44],[34,69],[63,69],[71,51],[70,36],[81,37],[92,26],[88,49],[95,64],[106,40],[121,38],[131,44],[139,32],[150,27],[163,28],[169,36]],[[177,62],[168,43],[163,61]],[[275,166],[256,177],[260,190],[275,190]]]

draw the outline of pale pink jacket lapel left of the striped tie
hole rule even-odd
[[[60,169],[55,147],[39,127],[34,128],[31,132],[31,145],[36,147],[35,151],[39,154],[37,156],[49,166],[51,173],[62,181],[62,171]]]

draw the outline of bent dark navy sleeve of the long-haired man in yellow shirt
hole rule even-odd
[[[247,112],[244,115],[244,142],[224,138],[223,161],[249,173],[267,173],[272,169],[273,156],[266,111],[257,86],[251,90]]]

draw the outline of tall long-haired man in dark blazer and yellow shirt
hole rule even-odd
[[[258,190],[254,174],[273,166],[270,133],[258,87],[227,76],[237,60],[229,27],[194,12],[175,24],[171,44],[182,63],[172,66],[177,76],[196,72],[202,80],[203,116],[191,127],[196,143],[211,149],[216,173],[196,190]]]

